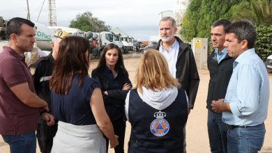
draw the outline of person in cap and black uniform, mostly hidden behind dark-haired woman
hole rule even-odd
[[[66,31],[56,31],[54,38],[52,39],[52,54],[40,58],[36,63],[29,66],[29,70],[33,77],[34,87],[37,95],[47,102],[49,110],[51,111],[51,99],[50,99],[50,86],[49,80],[52,76],[52,71],[54,69],[54,61],[58,55],[59,43],[63,38],[66,38],[69,34]],[[47,126],[44,120],[39,118],[38,129],[36,137],[38,138],[38,144],[40,146],[40,152],[50,153],[53,138],[56,135],[57,121],[55,120],[53,126]]]

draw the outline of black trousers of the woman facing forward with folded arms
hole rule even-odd
[[[112,121],[112,125],[114,127],[114,134],[119,136],[118,141],[119,145],[114,147],[115,153],[123,153],[123,144],[125,141],[125,133],[126,133],[126,121],[123,118],[119,118],[117,120]],[[105,136],[104,136],[105,137]],[[109,148],[109,139],[106,139],[107,149]]]

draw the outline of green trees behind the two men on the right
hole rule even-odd
[[[256,52],[265,60],[272,54],[271,0],[192,0],[181,22],[179,33],[183,40],[211,38],[210,26],[217,19],[249,19],[257,31]],[[212,51],[209,45],[209,53]]]

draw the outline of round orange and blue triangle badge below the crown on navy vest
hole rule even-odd
[[[169,131],[169,123],[165,119],[155,119],[150,124],[150,131],[154,136],[165,136]]]

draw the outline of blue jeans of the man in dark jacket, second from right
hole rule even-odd
[[[208,111],[208,134],[212,153],[227,153],[227,126],[222,115]]]

